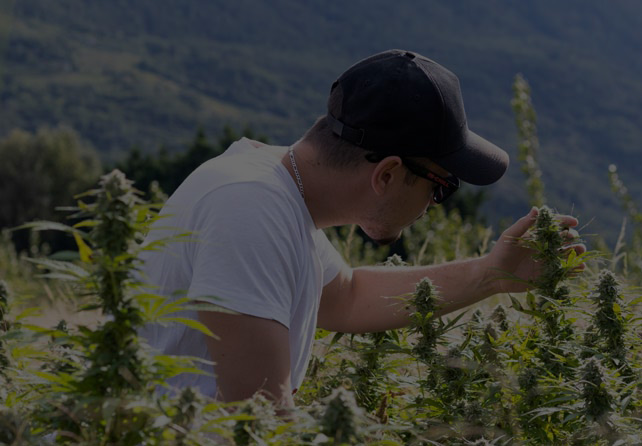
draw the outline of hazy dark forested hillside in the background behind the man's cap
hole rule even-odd
[[[631,0],[4,0],[0,136],[62,123],[112,161],[132,146],[176,150],[199,126],[250,125],[287,143],[323,113],[343,69],[402,47],[455,71],[470,126],[511,155],[521,72],[550,204],[595,217],[588,232],[613,232],[621,214],[608,165],[642,190],[641,27]],[[492,219],[522,213],[521,180],[513,168],[491,189]]]

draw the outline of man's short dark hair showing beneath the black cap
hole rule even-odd
[[[333,116],[340,116],[342,103],[343,91],[341,86],[337,85],[328,98],[328,110]],[[338,170],[358,167],[361,163],[368,162],[367,154],[374,153],[337,136],[330,128],[325,115],[319,117],[305,132],[302,140],[316,148],[321,160],[327,166]],[[417,177],[408,171],[404,181],[412,185],[417,181]]]

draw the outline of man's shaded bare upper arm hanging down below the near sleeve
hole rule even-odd
[[[218,399],[240,401],[260,391],[282,407],[294,406],[285,326],[245,314],[201,311],[198,317],[220,338],[208,338]]]

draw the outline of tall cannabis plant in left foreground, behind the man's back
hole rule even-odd
[[[91,200],[78,202],[75,217],[82,221],[74,227],[60,227],[74,236],[86,269],[66,262],[39,263],[58,277],[77,280],[93,296],[87,308],[101,308],[105,320],[96,329],[80,327],[76,335],[60,325],[52,332],[54,341],[76,349],[81,359],[69,364],[65,372],[58,367],[57,375],[47,374],[64,391],[47,395],[34,417],[63,431],[60,443],[91,442],[104,436],[121,444],[137,444],[153,432],[153,420],[129,406],[138,392],[150,389],[152,376],[136,335],[144,317],[128,290],[134,282],[135,241],[141,239],[149,208],[142,205],[121,172],[103,176],[98,186],[80,196]],[[48,226],[34,225],[35,229]]]

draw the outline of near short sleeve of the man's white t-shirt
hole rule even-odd
[[[198,206],[188,297],[289,328],[300,245],[290,203],[276,191],[234,184]]]

